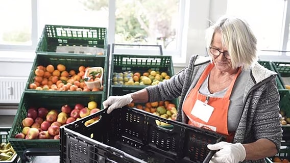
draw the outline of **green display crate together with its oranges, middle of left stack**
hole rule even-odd
[[[80,56],[80,55],[60,55],[59,53],[55,54],[37,53],[31,68],[31,72],[28,78],[25,91],[32,92],[40,91],[45,93],[57,93],[57,94],[61,93],[79,94],[80,92],[87,94],[105,93],[107,95],[108,68],[109,68],[107,62],[108,62],[107,56]],[[48,68],[48,66],[51,66],[52,68]],[[78,88],[81,89],[80,91],[76,91],[78,88],[68,89],[69,91],[67,91],[67,89],[64,89],[64,87],[57,85],[57,82],[59,81],[62,86],[67,85],[67,83],[70,83],[70,85],[76,85],[75,82],[78,82],[79,85],[85,84],[84,83],[85,68],[88,67],[102,67],[104,69],[102,82],[104,86],[103,90],[96,90],[92,92],[93,90],[87,89],[87,91],[84,91],[85,89],[82,89],[81,86],[79,86]],[[38,73],[40,73],[40,75],[38,75]],[[53,83],[47,84],[49,82]],[[32,84],[36,86],[32,86]],[[51,90],[52,84],[56,86],[54,87],[53,90]],[[45,85],[46,87],[44,87]],[[39,88],[38,86],[40,87],[40,90],[38,89]],[[60,90],[60,88],[63,89]]]

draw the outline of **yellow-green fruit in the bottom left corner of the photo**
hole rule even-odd
[[[15,155],[16,155],[16,152],[14,151],[10,143],[0,144],[0,162],[11,161]]]

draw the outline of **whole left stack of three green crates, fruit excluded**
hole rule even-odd
[[[59,51],[59,49],[69,49]],[[71,49],[78,49],[72,50]],[[107,45],[107,29],[81,26],[45,25],[42,36],[36,48],[36,57],[31,68],[26,89],[22,94],[18,110],[12,125],[9,142],[13,145],[18,155],[22,155],[26,149],[56,149],[59,150],[59,140],[25,140],[15,139],[15,135],[22,131],[22,120],[26,118],[30,107],[45,107],[48,110],[61,112],[61,106],[68,104],[74,107],[81,103],[87,106],[88,102],[95,101],[98,108],[103,109],[102,102],[108,96],[108,70],[109,49]],[[85,50],[84,50],[85,49]],[[86,52],[86,49],[93,52]],[[103,53],[103,55],[100,53]],[[85,51],[85,52],[84,52]],[[99,51],[97,53],[97,51]],[[34,82],[35,70],[38,66],[53,65],[55,69],[58,64],[66,67],[66,70],[78,72],[80,66],[102,67],[103,86],[101,91],[57,91],[57,90],[35,90],[30,89]],[[45,155],[45,153],[44,153]]]

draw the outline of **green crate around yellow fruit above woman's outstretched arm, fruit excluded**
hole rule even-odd
[[[166,72],[171,77],[174,75],[174,68],[171,56],[142,56],[142,55],[112,55],[110,75],[110,95],[124,95],[141,90],[148,85],[113,85],[113,72],[147,72],[149,69]]]

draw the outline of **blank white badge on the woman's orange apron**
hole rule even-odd
[[[194,107],[192,107],[191,115],[201,119],[204,122],[208,122],[211,114],[213,112],[213,107],[197,100]]]

